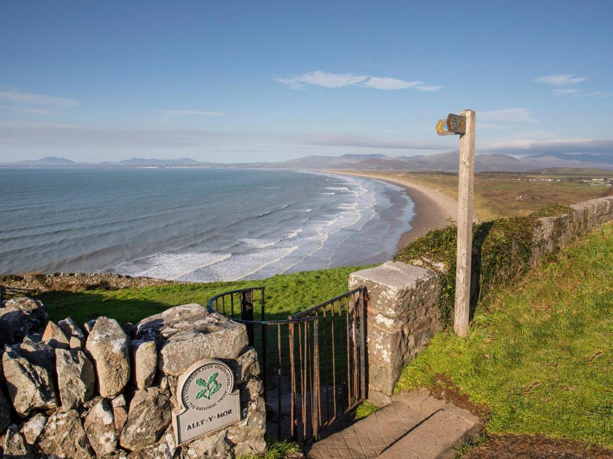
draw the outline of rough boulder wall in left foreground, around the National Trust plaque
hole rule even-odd
[[[3,457],[234,457],[265,450],[257,354],[245,326],[198,304],[132,326],[99,317],[78,327],[47,321],[28,297],[0,308]],[[10,336],[6,333],[10,331]],[[234,373],[241,420],[177,447],[180,375],[220,359]]]

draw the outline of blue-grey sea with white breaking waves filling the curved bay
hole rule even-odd
[[[189,282],[387,261],[413,202],[392,184],[254,169],[0,169],[0,273]]]

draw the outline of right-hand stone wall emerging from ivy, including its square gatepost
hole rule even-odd
[[[613,196],[571,206],[574,218],[540,218],[533,234],[530,266],[568,244],[574,236],[613,220]],[[438,275],[423,267],[388,261],[354,272],[349,288],[368,289],[368,399],[377,406],[391,402],[403,365],[441,329]]]

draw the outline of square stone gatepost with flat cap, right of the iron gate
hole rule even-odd
[[[392,401],[403,365],[440,330],[435,272],[397,261],[351,274],[349,289],[368,289],[368,400]]]

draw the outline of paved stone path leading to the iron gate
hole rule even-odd
[[[477,416],[425,389],[394,395],[392,403],[313,444],[311,459],[452,457],[462,439],[474,438]]]

